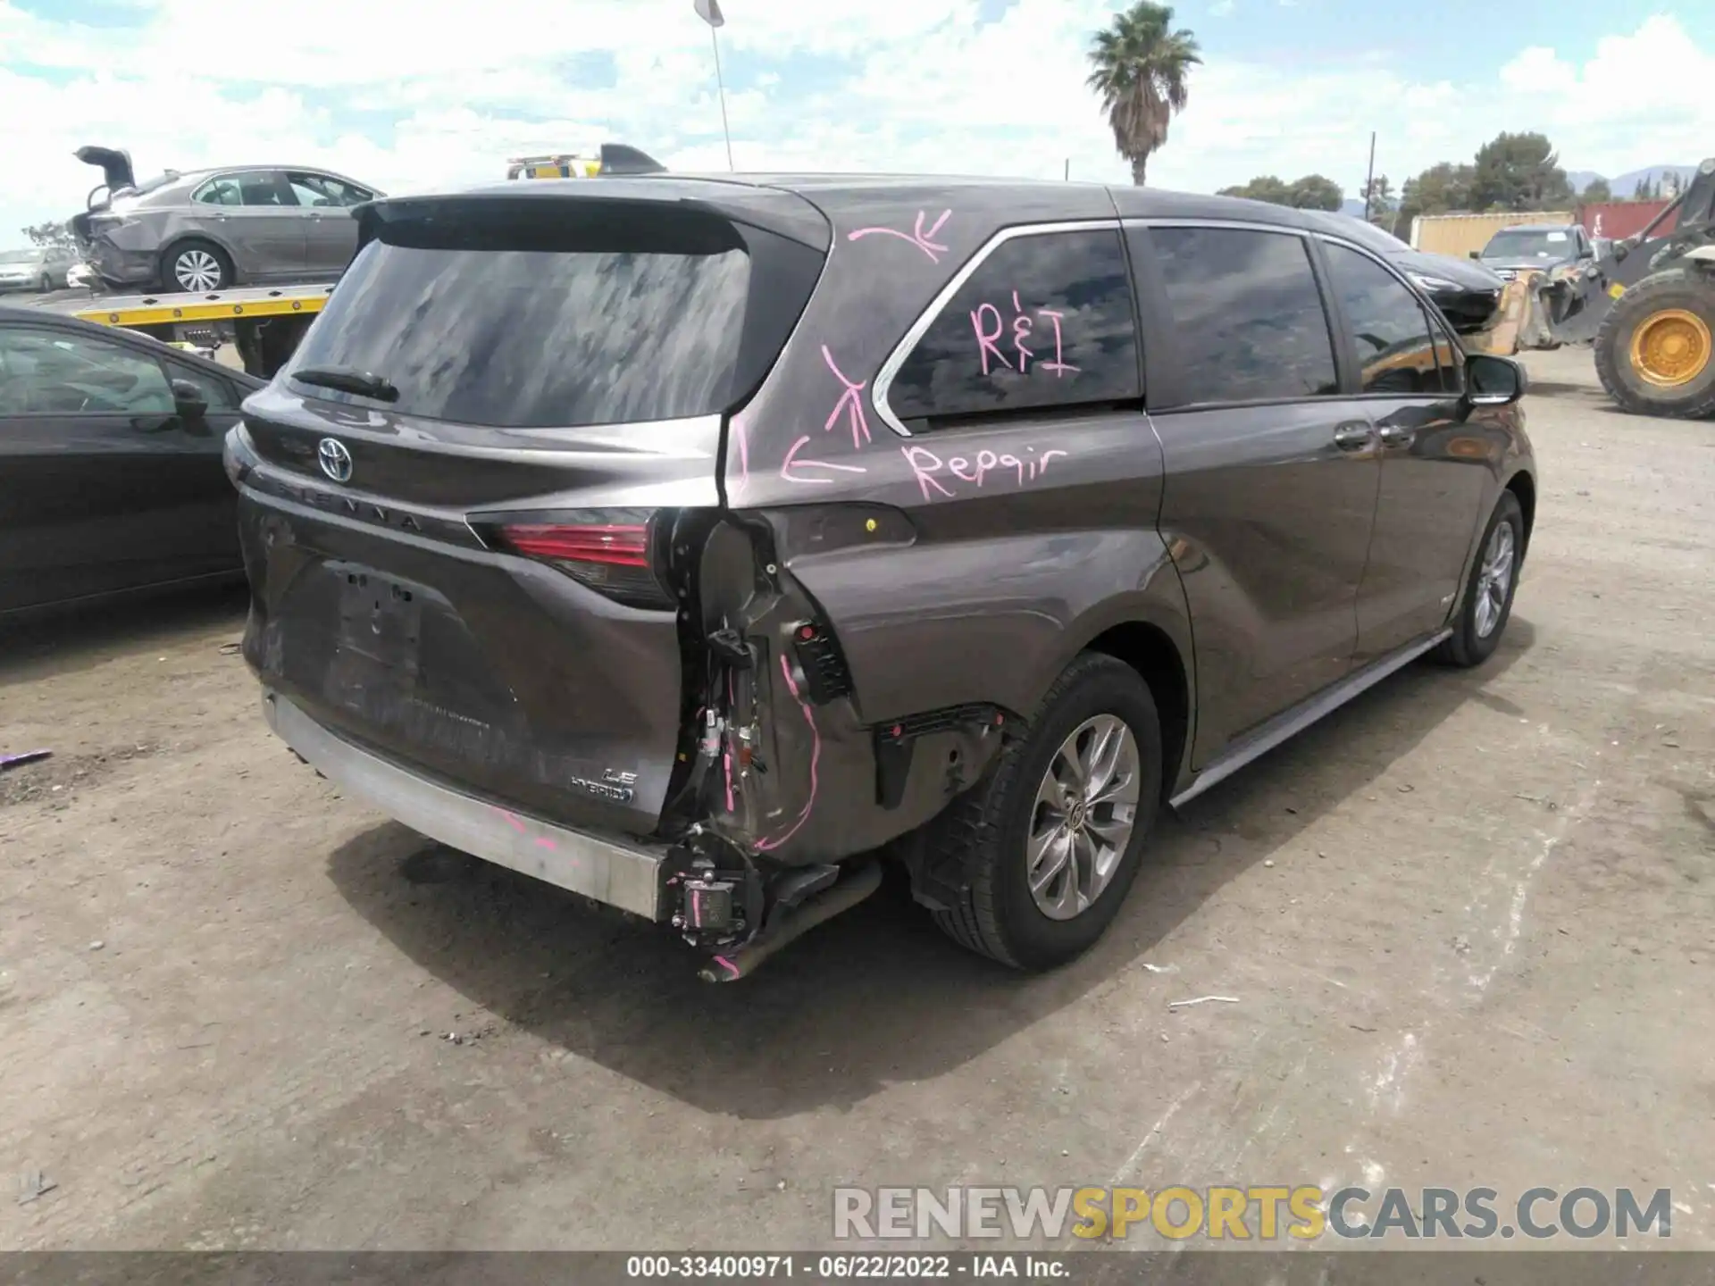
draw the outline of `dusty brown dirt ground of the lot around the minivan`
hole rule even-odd
[[[0,1247],[813,1248],[837,1183],[1367,1180],[1670,1187],[1715,1248],[1715,425],[1530,367],[1502,652],[1166,820],[1048,977],[882,897],[698,983],[300,766],[240,598],[12,629],[0,749],[55,754],[0,777],[0,1175],[53,1187]]]

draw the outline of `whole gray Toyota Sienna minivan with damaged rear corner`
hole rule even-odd
[[[1274,206],[940,178],[377,201],[226,442],[274,730],[713,979],[868,895],[1087,948],[1180,804],[1425,653],[1537,506],[1511,360]]]

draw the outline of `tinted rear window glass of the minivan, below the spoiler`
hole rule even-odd
[[[587,228],[386,225],[286,376],[379,376],[394,410],[504,429],[672,420],[727,408],[749,257],[731,225],[605,214]],[[377,405],[326,388],[329,401]]]

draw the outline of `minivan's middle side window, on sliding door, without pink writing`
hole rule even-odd
[[[1322,293],[1302,237],[1151,228],[1187,405],[1339,391]]]

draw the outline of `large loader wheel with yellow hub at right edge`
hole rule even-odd
[[[1597,376],[1636,415],[1715,412],[1715,281],[1674,267],[1626,290],[1597,331]]]

